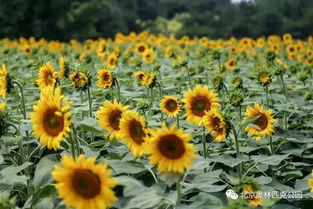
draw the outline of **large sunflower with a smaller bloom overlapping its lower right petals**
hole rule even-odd
[[[220,107],[217,94],[209,90],[208,86],[200,86],[199,84],[184,94],[186,109],[186,120],[189,123],[200,125],[206,111]]]

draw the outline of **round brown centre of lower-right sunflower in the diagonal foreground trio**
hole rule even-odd
[[[163,156],[170,159],[178,159],[186,151],[182,140],[174,134],[162,136],[158,142],[158,149]]]

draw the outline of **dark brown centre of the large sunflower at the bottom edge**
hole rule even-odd
[[[76,170],[72,177],[72,186],[77,194],[90,199],[101,192],[101,181],[90,170]]]

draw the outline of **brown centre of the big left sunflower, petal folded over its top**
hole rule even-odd
[[[55,114],[56,110],[49,110],[43,116],[43,127],[51,136],[57,136],[64,128],[64,118]]]

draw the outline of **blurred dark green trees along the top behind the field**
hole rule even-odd
[[[258,37],[313,31],[312,0],[0,0],[0,38],[62,41],[148,30],[178,37]]]

